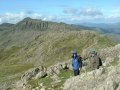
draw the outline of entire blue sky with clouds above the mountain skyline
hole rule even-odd
[[[25,17],[72,24],[117,23],[120,0],[0,0],[0,24]]]

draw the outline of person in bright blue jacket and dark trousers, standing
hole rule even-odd
[[[80,74],[80,69],[82,68],[82,58],[80,57],[80,55],[77,54],[76,50],[74,50],[72,54],[72,67],[74,71],[74,76],[77,76]]]

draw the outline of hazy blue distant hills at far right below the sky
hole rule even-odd
[[[120,42],[120,23],[81,23],[78,28],[100,32],[116,42]]]

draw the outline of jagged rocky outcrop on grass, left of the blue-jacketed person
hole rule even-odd
[[[48,68],[43,66],[32,68],[26,71],[25,74],[22,75],[21,80],[17,81],[14,86],[16,88],[23,88],[24,86],[26,87],[29,80],[41,79],[46,76],[50,76],[51,79],[53,79],[54,81],[53,83],[55,84],[55,83],[61,82],[61,80],[59,80],[58,79],[59,77],[57,76],[61,72],[61,70],[69,69],[69,68],[70,68],[70,63],[68,62],[58,63]]]

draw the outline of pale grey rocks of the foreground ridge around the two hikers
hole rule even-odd
[[[111,52],[108,52],[108,50]],[[100,51],[104,51],[104,57],[106,58],[106,60],[103,61],[103,66],[100,67],[100,69],[87,71],[87,66],[84,66],[82,68],[83,72],[81,75],[66,80],[64,83],[64,88],[60,87],[60,90],[120,90],[120,45],[118,44],[114,47],[101,49]],[[114,53],[113,51],[118,51],[118,53]],[[110,57],[111,53],[114,54],[112,57]],[[115,59],[116,57],[118,58]],[[112,63],[114,63],[115,60],[117,60],[117,63],[113,65]],[[27,82],[30,79],[40,79],[48,76],[55,81],[53,82],[53,85],[55,85],[56,82],[61,82],[58,74],[61,73],[61,70],[65,69],[66,67],[72,70],[71,63],[69,61],[58,63],[48,68],[40,66],[30,69],[24,75],[22,75],[20,81],[16,82],[15,90],[18,88],[27,88],[29,90],[31,86]],[[46,87],[41,84],[42,83],[40,83],[35,90],[46,90]]]

